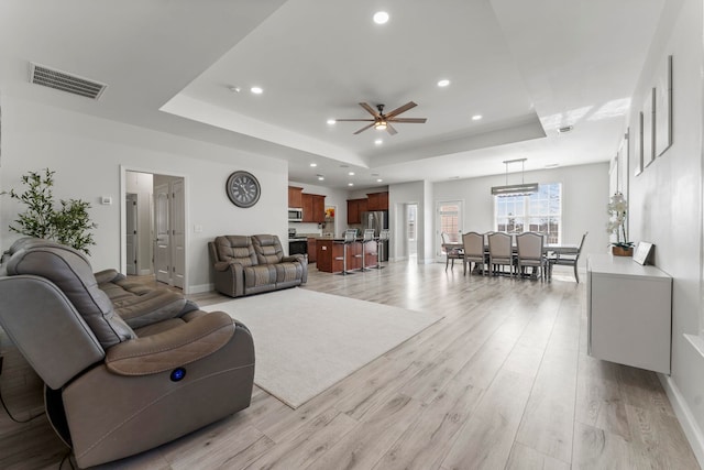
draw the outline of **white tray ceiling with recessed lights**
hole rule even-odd
[[[330,187],[604,162],[663,1],[2,0],[0,91],[285,159],[290,181]],[[38,89],[29,62],[108,89]],[[396,135],[326,122],[410,100],[402,117],[428,121]]]

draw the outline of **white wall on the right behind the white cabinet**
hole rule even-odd
[[[672,373],[662,378],[704,464],[704,358],[684,335],[702,327],[702,28],[701,0],[663,8],[632,97],[630,129],[668,55],[673,55],[673,144],[639,176],[630,162],[630,232],[656,244],[654,263],[673,277]],[[631,146],[632,155],[632,146]]]

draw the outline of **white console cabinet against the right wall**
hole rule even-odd
[[[588,354],[669,374],[672,277],[629,256],[591,254],[586,265]]]

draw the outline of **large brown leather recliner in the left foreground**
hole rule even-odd
[[[0,272],[0,326],[45,382],[46,412],[80,467],[128,457],[250,405],[250,331],[221,311],[114,310],[79,252],[32,244]]]

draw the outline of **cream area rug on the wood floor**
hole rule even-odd
[[[442,317],[299,287],[202,307],[254,338],[254,383],[296,408]]]

